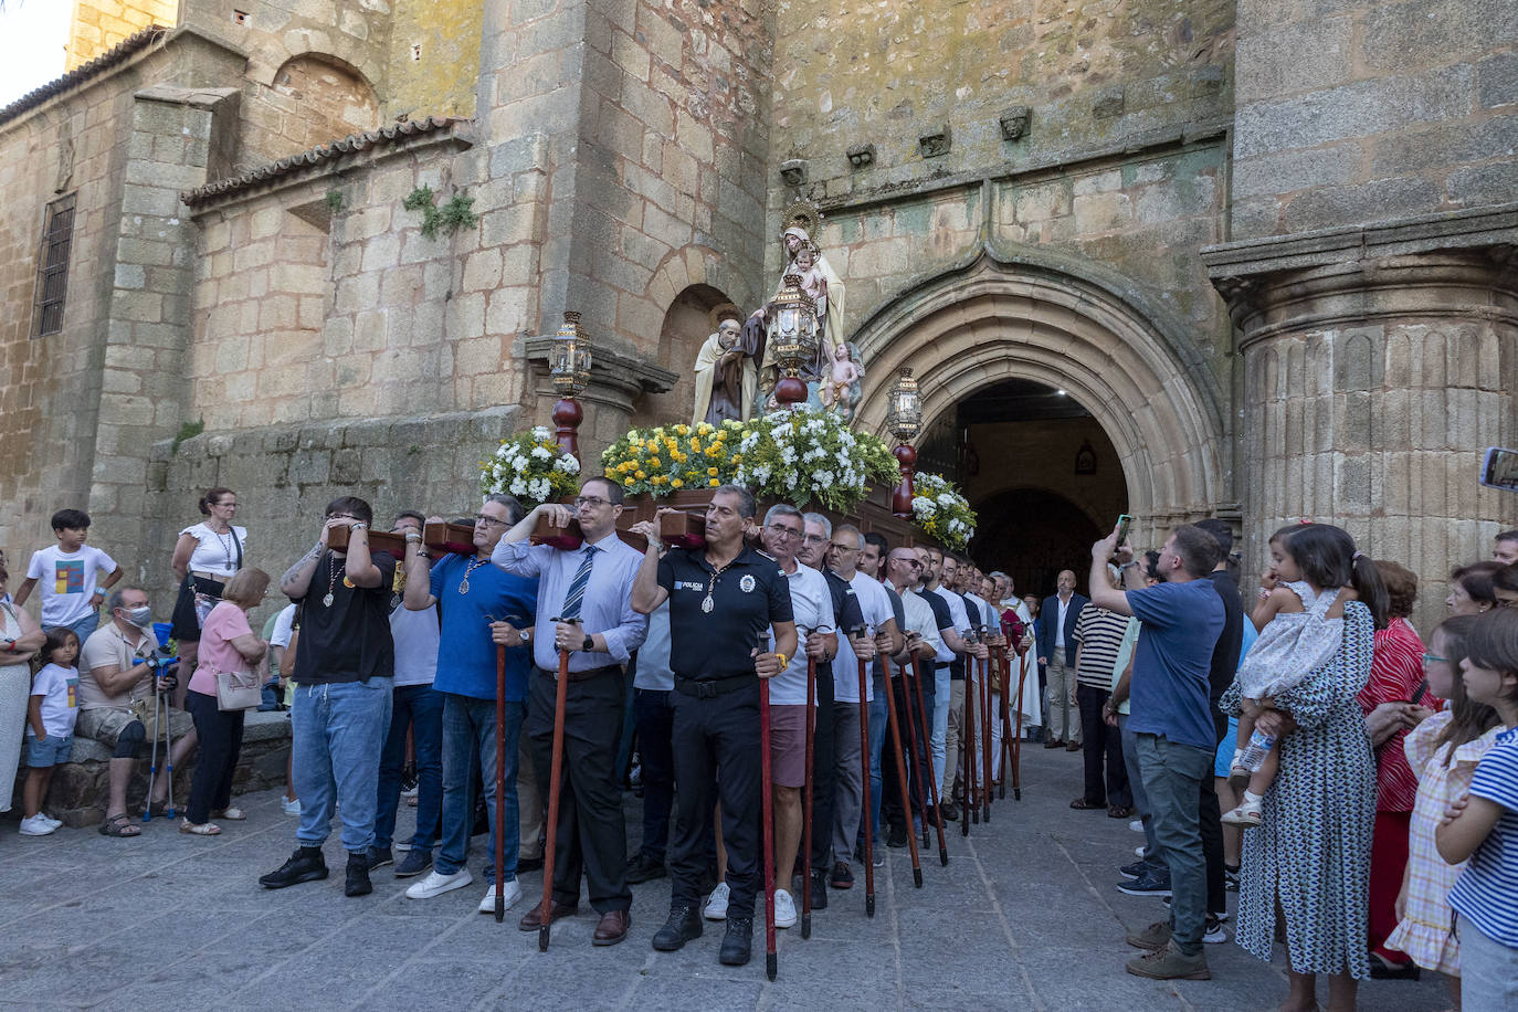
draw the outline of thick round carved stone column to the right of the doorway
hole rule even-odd
[[[1451,566],[1518,517],[1477,484],[1518,442],[1518,206],[1204,250],[1243,355],[1243,563],[1302,517],[1419,577],[1444,614]]]

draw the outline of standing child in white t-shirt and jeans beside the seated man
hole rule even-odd
[[[79,637],[73,630],[49,630],[38,655],[46,662],[32,678],[32,698],[26,709],[26,786],[21,803],[21,836],[47,836],[61,821],[43,815],[43,800],[53,783],[53,766],[68,762],[74,746],[74,719],[79,716]]]

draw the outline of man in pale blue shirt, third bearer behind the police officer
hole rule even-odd
[[[838,642],[838,655],[833,658],[833,759],[838,778],[836,803],[833,810],[833,878],[842,880],[852,875],[849,869],[853,856],[855,838],[859,833],[859,819],[864,809],[864,746],[859,740],[861,712],[874,698],[870,672],[865,671],[865,698],[859,698],[859,662],[873,660],[876,649],[882,645],[890,652],[897,652],[902,645],[896,630],[896,613],[891,608],[891,598],[885,587],[856,569],[859,552],[864,551],[864,536],[859,528],[839,525],[833,528],[832,545],[827,551],[827,564],[841,580],[853,587],[859,599],[859,611],[864,616],[864,636],[856,630],[842,630],[847,636]],[[841,875],[838,865],[849,875]]]

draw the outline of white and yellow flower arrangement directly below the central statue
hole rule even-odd
[[[738,484],[761,499],[795,507],[815,499],[839,511],[864,499],[871,484],[894,482],[897,475],[883,440],[815,408],[771,411],[747,422],[736,461]]]

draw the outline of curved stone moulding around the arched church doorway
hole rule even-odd
[[[1138,517],[1164,526],[1231,498],[1210,370],[1183,363],[1175,338],[1107,285],[985,249],[897,296],[853,340],[868,369],[859,417],[873,431],[885,434],[903,366],[924,423],[981,387],[1034,379],[1067,390],[1107,431]]]

